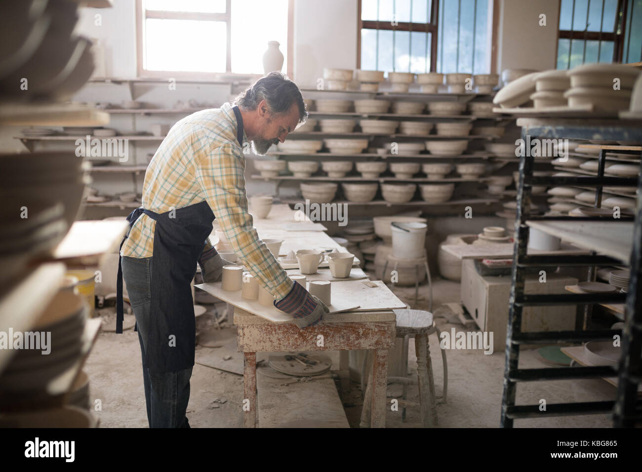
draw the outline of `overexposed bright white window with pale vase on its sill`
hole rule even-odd
[[[138,0],[139,76],[263,74],[271,40],[285,69],[290,1]]]

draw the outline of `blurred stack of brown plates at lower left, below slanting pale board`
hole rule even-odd
[[[20,349],[0,374],[0,391],[22,395],[24,392],[42,392],[49,381],[67,371],[80,359],[82,335],[89,307],[82,295],[61,291],[31,331],[47,334],[49,354],[40,349]]]

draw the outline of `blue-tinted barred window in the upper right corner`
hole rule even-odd
[[[642,0],[561,0],[557,69],[642,61]]]

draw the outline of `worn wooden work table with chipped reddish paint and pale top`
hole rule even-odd
[[[288,205],[274,205],[268,218],[255,218],[254,225],[261,238],[284,240],[281,253],[296,249],[334,248],[345,252],[345,248],[338,245],[324,231],[284,229],[284,225],[297,223],[294,220],[294,214],[295,212]],[[306,224],[309,225],[309,222]],[[353,268],[353,272],[355,270],[360,271],[358,268]],[[238,293],[221,290],[220,283],[200,284],[198,287],[222,301],[236,305],[234,324],[237,326],[237,347],[238,351],[243,353],[244,426],[254,428],[257,422],[257,352],[342,351],[340,370],[347,371],[347,351],[372,349],[375,355],[372,364],[374,388],[372,389],[371,425],[375,428],[385,427],[388,349],[394,345],[396,332],[396,318],[392,308],[399,308],[399,306],[392,304],[382,306],[380,310],[331,313],[325,315],[317,326],[300,329],[289,320],[273,322],[261,317],[263,314],[261,310],[275,309],[261,308],[258,304],[243,304],[241,308]],[[286,313],[282,315],[289,316]]]

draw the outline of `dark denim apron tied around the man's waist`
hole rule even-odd
[[[242,147],[243,119],[238,107],[232,110],[238,123],[237,139]],[[146,367],[153,372],[182,371],[194,365],[195,355],[196,320],[190,284],[216,217],[205,201],[166,213],[139,207],[127,217],[130,229],[143,213],[156,222],[151,274],[153,322],[143,340]],[[121,248],[127,236],[123,238]],[[116,333],[122,333],[123,270],[120,259],[116,292]]]

